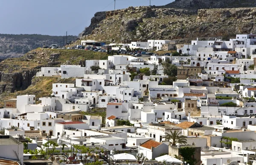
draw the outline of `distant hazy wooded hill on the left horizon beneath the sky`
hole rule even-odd
[[[39,34],[0,34],[0,59],[21,57],[30,50],[45,45],[66,42],[66,36],[48,36]],[[77,36],[68,36],[67,41],[76,41]]]

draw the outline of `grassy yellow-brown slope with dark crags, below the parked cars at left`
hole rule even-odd
[[[33,84],[37,69],[41,67],[59,67],[61,64],[84,66],[85,60],[108,59],[107,53],[85,50],[58,50],[38,48],[20,58],[5,59],[0,62],[0,101],[9,93],[27,89]],[[37,79],[35,79],[37,80]],[[58,79],[57,79],[58,80]],[[59,81],[59,80],[58,80]],[[44,89],[46,86],[37,81]],[[52,82],[55,82],[52,80]],[[48,84],[48,83],[45,83]],[[40,92],[41,88],[34,90]],[[33,90],[28,93],[37,93]],[[42,94],[43,95],[43,94]],[[7,97],[8,98],[8,97]]]

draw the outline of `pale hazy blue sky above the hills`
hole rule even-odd
[[[116,0],[116,9],[148,5],[149,0]],[[78,35],[97,11],[113,9],[114,0],[0,0],[0,34]]]

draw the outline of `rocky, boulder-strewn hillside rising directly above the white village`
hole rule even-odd
[[[255,33],[256,8],[200,9],[129,7],[107,11],[87,39],[106,42],[195,39]]]

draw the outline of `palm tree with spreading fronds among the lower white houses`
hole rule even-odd
[[[164,142],[169,142],[169,145],[176,145],[177,143],[186,144],[186,136],[180,135],[181,132],[175,130],[171,131],[171,134],[166,133],[163,138],[165,138]]]

